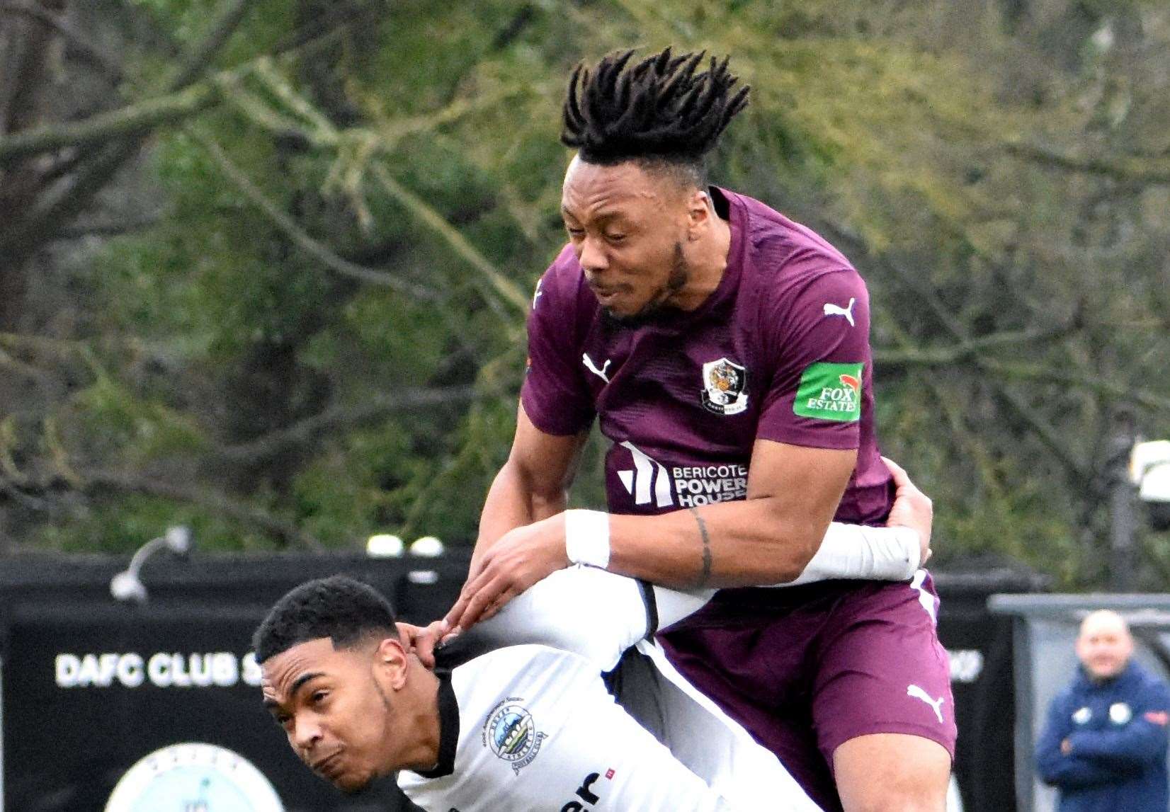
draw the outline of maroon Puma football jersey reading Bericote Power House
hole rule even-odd
[[[764,204],[718,188],[731,246],[694,311],[635,326],[603,312],[571,246],[541,278],[521,393],[532,424],[576,434],[593,417],[611,441],[615,514],[744,498],[752,443],[856,448],[837,519],[879,523],[890,475],[873,425],[869,298],[835,248]]]

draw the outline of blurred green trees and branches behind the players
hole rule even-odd
[[[135,2],[188,49],[221,8]],[[937,560],[991,552],[1067,586],[1100,580],[1112,417],[1128,404],[1147,433],[1170,431],[1165,184],[1020,146],[1164,156],[1163,5],[413,2],[254,61],[326,6],[254,4],[215,63],[238,68],[225,104],[154,139],[165,215],[94,260],[91,360],[55,414],[67,453],[190,473],[328,546],[474,539],[523,369],[508,291],[526,298],[563,241],[567,73],[676,43],[730,53],[752,85],[714,181],[821,230],[866,276],[892,359],[876,369],[882,447],[935,498]],[[1126,39],[1134,20],[1144,40]],[[1051,336],[963,349],[1030,330]],[[363,412],[448,387],[474,397]],[[594,438],[573,504],[604,500],[603,450]],[[122,550],[177,519],[219,549],[291,541],[142,495],[33,524],[50,546]],[[1147,542],[1165,572],[1170,543]]]

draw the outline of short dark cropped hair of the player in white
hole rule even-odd
[[[302,642],[329,638],[337,648],[371,636],[398,636],[394,610],[369,584],[331,576],[290,590],[268,611],[252,635],[256,662]]]

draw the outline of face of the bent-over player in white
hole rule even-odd
[[[385,763],[391,707],[369,647],[338,649],[322,638],[269,658],[261,670],[264,706],[318,776],[356,792],[401,766]]]

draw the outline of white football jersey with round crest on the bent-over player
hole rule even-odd
[[[776,756],[646,640],[709,594],[592,567],[549,576],[468,633],[463,642],[487,653],[440,689],[443,737],[457,727],[457,744],[441,745],[434,772],[400,772],[399,786],[435,812],[818,812]],[[653,732],[601,680],[635,645],[653,663],[634,686]]]

